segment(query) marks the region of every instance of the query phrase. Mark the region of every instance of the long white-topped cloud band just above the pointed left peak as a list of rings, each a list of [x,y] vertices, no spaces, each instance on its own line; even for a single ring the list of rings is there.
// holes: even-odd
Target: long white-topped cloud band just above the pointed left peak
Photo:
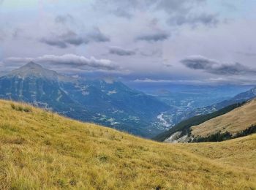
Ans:
[[[103,69],[103,70],[116,70],[118,66],[113,64],[108,59],[97,59],[94,57],[86,58],[84,56],[77,56],[74,54],[64,54],[63,56],[45,55],[37,58],[17,58],[10,57],[4,59],[4,64],[8,66],[18,66],[18,64],[28,63],[34,61],[38,64],[48,64],[49,66],[67,66],[77,67],[78,69]]]

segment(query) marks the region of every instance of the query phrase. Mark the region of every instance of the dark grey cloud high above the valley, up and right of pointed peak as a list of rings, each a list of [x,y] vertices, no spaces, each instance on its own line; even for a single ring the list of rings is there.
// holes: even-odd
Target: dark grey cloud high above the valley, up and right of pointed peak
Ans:
[[[69,45],[83,45],[90,42],[109,42],[110,39],[99,31],[99,28],[94,28],[89,34],[78,35],[75,31],[65,31],[61,35],[51,35],[50,37],[43,37],[40,42],[47,45],[66,48]]]

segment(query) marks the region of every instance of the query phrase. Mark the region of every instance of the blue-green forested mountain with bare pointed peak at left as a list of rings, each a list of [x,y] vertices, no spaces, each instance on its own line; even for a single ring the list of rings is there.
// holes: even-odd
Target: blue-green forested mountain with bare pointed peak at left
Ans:
[[[67,77],[33,62],[0,77],[0,98],[29,102],[142,137],[163,132],[157,115],[170,109],[119,81]]]

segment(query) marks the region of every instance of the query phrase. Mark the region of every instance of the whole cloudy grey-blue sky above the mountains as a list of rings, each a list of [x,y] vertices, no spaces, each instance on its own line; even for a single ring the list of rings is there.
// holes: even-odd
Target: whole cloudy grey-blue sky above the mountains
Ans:
[[[0,0],[0,71],[255,84],[255,0]]]

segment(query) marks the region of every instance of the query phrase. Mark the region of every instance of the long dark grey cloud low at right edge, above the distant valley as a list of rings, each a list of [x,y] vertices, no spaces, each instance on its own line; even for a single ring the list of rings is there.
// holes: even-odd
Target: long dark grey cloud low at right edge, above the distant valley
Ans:
[[[246,75],[256,73],[255,69],[251,69],[243,64],[226,64],[203,56],[190,56],[189,58],[182,59],[181,63],[189,69],[203,70],[215,75]]]

